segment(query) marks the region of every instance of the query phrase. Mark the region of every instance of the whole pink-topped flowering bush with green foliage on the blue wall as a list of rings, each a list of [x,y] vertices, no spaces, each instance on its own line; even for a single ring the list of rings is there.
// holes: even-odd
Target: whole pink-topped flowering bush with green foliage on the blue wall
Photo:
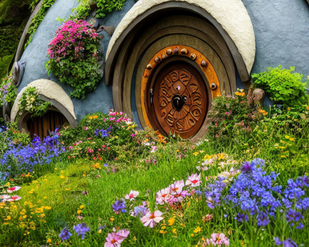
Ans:
[[[74,88],[71,97],[85,98],[95,90],[103,76],[99,36],[86,21],[69,20],[63,23],[50,41],[47,53],[50,60],[45,67],[48,74]],[[102,71],[102,72],[101,72]]]

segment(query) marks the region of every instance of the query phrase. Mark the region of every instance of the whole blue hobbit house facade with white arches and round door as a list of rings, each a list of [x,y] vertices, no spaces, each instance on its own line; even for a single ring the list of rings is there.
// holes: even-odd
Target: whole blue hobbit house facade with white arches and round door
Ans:
[[[85,99],[70,98],[72,88],[48,75],[45,63],[59,27],[56,19],[68,18],[76,6],[76,0],[56,0],[26,49],[16,53],[19,93],[11,107],[3,107],[3,115],[32,136],[46,136],[65,123],[75,127],[89,113],[115,109],[139,128],[201,138],[212,99],[248,88],[251,73],[281,63],[307,74],[306,0],[284,0],[280,7],[266,0],[127,0],[104,19],[86,18],[103,36],[102,79]],[[41,117],[19,111],[19,99],[32,86],[40,100],[51,103]]]

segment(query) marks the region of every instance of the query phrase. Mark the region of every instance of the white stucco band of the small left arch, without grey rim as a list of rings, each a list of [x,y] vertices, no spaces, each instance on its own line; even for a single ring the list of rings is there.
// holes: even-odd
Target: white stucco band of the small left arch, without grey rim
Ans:
[[[59,103],[59,105],[62,105],[63,107],[65,107],[66,110],[76,120],[72,100],[66,94],[66,92],[62,89],[62,87],[59,86],[56,82],[46,80],[46,79],[39,79],[39,80],[36,80],[36,81],[29,83],[17,95],[16,100],[15,100],[13,107],[12,107],[12,110],[11,110],[11,121],[12,122],[15,121],[16,115],[19,111],[19,104],[20,104],[19,100],[20,100],[23,92],[28,87],[36,87],[38,94],[41,94],[41,95],[45,96],[46,98],[49,98],[49,99]],[[61,109],[59,109],[59,110],[61,111]]]

